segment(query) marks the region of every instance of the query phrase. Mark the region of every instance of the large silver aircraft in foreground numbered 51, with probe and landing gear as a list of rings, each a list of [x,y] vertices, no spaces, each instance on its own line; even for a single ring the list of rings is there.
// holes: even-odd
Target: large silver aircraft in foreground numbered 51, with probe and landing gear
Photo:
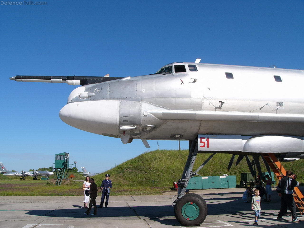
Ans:
[[[258,156],[301,158],[304,151],[302,70],[174,62],[155,74],[126,77],[14,76],[15,81],[81,85],[59,112],[65,123],[95,134],[120,138],[189,140],[175,216],[185,226],[204,221],[207,206],[185,188],[197,153],[230,153],[246,157],[261,172]],[[254,161],[248,161],[253,155]],[[211,157],[210,157],[211,158]],[[207,161],[206,161],[207,162]],[[269,168],[269,167],[268,167]],[[250,169],[251,171],[251,169]],[[191,206],[189,205],[191,202]],[[199,211],[192,218],[183,211]],[[186,213],[186,214],[185,214]]]

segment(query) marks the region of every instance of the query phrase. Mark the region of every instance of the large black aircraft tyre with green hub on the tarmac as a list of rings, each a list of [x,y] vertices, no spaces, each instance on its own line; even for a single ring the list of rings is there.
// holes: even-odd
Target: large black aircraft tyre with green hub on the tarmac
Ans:
[[[183,226],[199,226],[207,216],[207,204],[202,196],[189,193],[177,201],[175,218]]]

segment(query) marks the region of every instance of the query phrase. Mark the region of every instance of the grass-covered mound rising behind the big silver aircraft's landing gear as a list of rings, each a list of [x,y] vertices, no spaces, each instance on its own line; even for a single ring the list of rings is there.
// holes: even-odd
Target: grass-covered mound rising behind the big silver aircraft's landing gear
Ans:
[[[198,168],[210,154],[198,154],[194,170]],[[109,173],[113,188],[113,193],[117,195],[144,195],[153,194],[161,190],[170,190],[172,182],[181,178],[184,165],[188,157],[188,150],[154,150],[138,157],[130,159],[110,170],[98,174],[94,177],[97,185],[100,185],[104,175]],[[245,159],[235,166],[235,161],[230,171],[227,170],[230,161],[230,154],[216,154],[199,171],[201,176],[219,176],[223,174],[236,175],[237,184],[240,183],[240,173],[249,172]],[[261,164],[263,162],[261,161]],[[298,174],[298,181],[303,181],[304,161],[285,162],[285,169],[290,169]],[[262,165],[262,171],[266,168]],[[153,187],[154,180],[154,187]]]

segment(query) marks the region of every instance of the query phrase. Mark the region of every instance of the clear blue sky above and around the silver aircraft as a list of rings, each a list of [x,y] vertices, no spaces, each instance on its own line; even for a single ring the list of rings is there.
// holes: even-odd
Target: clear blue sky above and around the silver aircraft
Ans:
[[[68,152],[78,169],[101,172],[148,151],[140,140],[124,145],[62,122],[75,86],[11,76],[138,76],[196,58],[304,69],[303,0],[45,2],[0,5],[0,162],[8,169],[49,167]],[[176,141],[158,144],[178,149]]]

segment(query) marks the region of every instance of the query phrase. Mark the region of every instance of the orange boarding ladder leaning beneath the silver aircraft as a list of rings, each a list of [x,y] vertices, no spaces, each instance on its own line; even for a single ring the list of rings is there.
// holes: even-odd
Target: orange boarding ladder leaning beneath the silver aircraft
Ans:
[[[282,166],[281,162],[278,161],[278,158],[275,157],[274,153],[262,153],[262,156],[279,180],[286,175],[286,170]],[[304,213],[304,202],[302,201],[304,196],[298,187],[295,187],[293,191],[294,194],[292,195],[295,199],[295,205],[299,208],[299,212],[302,215],[302,213]]]

